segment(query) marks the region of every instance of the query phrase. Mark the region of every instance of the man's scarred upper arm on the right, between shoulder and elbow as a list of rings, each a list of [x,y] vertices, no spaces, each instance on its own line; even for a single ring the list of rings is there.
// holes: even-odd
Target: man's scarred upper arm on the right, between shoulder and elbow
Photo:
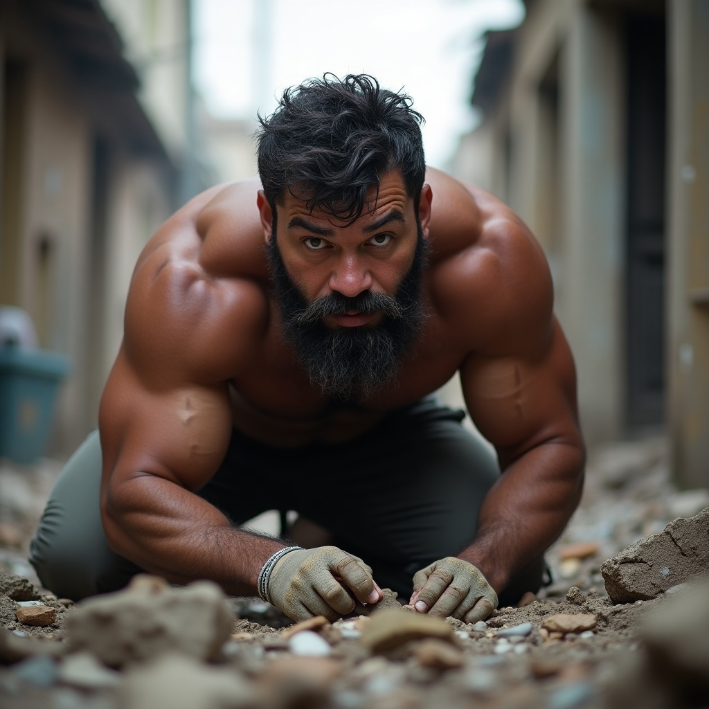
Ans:
[[[580,444],[574,362],[556,321],[537,352],[471,354],[461,381],[471,418],[498,450],[503,469],[547,441]]]

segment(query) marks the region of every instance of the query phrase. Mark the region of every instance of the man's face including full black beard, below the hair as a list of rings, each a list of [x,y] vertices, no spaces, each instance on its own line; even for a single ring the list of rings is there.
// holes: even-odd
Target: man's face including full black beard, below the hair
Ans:
[[[350,225],[291,195],[271,215],[267,253],[286,337],[313,384],[338,401],[395,379],[416,340],[429,207],[430,191],[415,213],[391,171]]]

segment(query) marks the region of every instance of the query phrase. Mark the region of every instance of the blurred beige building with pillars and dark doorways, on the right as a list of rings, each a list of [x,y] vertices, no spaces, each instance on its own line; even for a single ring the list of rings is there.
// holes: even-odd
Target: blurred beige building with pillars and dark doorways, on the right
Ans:
[[[666,424],[709,484],[709,3],[527,0],[489,33],[454,172],[552,268],[589,441]]]

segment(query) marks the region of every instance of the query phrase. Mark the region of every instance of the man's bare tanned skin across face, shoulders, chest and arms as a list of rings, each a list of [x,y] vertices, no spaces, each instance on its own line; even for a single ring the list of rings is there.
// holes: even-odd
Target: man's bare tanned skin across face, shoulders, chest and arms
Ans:
[[[272,213],[257,181],[210,189],[160,228],[135,267],[101,401],[101,513],[114,551],[169,581],[213,579],[227,593],[254,595],[259,570],[283,544],[231,527],[194,494],[216,472],[232,427],[281,447],[344,441],[457,371],[503,470],[458,558],[500,593],[558,537],[581,494],[584,445],[545,257],[491,195],[433,169],[426,182],[429,316],[398,382],[358,407],[339,408],[313,388],[281,337],[264,255]],[[416,242],[413,199],[397,171],[382,176],[368,207],[344,225],[291,196],[277,206],[284,264],[309,301],[396,291]],[[348,313],[325,324],[378,317]],[[352,590],[360,601],[380,594],[371,582]],[[427,608],[436,601],[428,584],[414,595]]]

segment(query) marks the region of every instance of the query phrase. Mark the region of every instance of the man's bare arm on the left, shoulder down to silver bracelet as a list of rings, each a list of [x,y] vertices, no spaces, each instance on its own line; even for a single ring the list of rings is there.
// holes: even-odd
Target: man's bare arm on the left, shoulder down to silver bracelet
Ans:
[[[204,274],[186,244],[158,245],[135,272],[99,415],[101,513],[111,548],[143,569],[252,594],[283,545],[233,527],[196,491],[227,450],[226,381],[258,341],[265,306],[250,281]]]

